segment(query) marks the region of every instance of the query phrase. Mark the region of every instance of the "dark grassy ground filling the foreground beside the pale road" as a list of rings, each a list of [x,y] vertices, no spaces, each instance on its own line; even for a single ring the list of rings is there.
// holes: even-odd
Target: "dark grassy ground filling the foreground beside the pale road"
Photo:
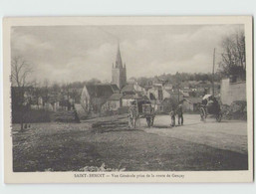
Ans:
[[[86,166],[127,171],[246,170],[248,156],[207,145],[120,129],[97,133],[92,123],[13,126],[13,170],[79,171]]]

